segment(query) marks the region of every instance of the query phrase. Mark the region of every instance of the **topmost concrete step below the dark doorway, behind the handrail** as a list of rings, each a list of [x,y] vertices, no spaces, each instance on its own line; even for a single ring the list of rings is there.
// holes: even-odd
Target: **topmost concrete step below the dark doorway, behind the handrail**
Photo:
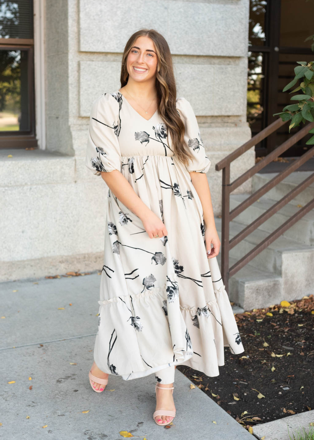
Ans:
[[[252,177],[252,194],[255,193],[260,187],[269,182],[273,177],[277,176],[277,172],[271,173],[256,173]],[[293,188],[307,179],[312,171],[296,171],[292,172],[284,180],[278,183],[274,188],[268,191],[265,195],[272,200],[280,200],[285,194],[288,194]],[[306,205],[310,200],[314,198],[314,183],[303,190],[296,198],[290,202],[292,205]]]

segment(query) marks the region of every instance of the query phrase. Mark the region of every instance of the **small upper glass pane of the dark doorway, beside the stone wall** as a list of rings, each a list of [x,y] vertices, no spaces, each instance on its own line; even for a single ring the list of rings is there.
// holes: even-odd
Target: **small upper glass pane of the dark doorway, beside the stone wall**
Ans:
[[[248,44],[252,46],[265,46],[267,0],[250,0],[250,18],[248,20]]]

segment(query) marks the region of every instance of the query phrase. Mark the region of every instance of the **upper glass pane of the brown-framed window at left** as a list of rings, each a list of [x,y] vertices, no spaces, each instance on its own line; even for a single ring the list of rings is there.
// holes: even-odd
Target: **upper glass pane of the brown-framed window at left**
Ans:
[[[33,1],[0,0],[0,38],[33,38]]]

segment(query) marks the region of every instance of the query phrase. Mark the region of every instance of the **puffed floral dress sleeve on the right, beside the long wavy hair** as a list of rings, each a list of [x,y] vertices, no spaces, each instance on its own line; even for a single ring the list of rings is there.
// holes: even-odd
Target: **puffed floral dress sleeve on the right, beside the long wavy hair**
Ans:
[[[185,125],[184,140],[193,155],[193,161],[189,160],[186,169],[189,172],[208,172],[211,161],[206,156],[205,147],[201,138],[200,129],[193,108],[185,98],[178,98],[176,101],[177,110]]]

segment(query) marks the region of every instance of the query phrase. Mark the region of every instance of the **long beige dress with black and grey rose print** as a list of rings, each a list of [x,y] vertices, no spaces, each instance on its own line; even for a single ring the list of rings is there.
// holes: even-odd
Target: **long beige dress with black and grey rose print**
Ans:
[[[211,162],[189,101],[177,99],[176,108],[193,154],[187,167],[158,110],[146,120],[119,91],[91,106],[85,165],[96,176],[119,170],[168,232],[150,238],[108,191],[94,359],[124,380],[178,364],[217,376],[224,347],[244,351],[216,257],[207,258],[203,209],[189,174],[206,173]]]

